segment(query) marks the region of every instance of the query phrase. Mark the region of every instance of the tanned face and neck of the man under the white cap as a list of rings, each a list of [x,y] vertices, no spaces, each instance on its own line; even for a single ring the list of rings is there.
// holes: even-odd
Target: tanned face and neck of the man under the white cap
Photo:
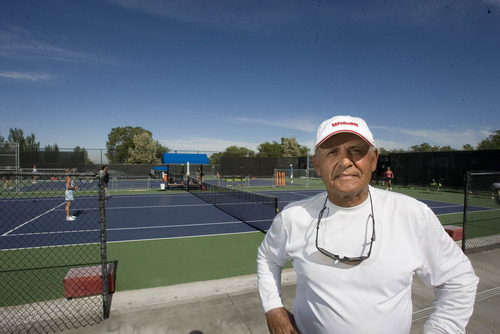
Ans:
[[[368,196],[368,184],[377,168],[378,151],[351,133],[340,133],[321,144],[313,156],[328,198],[339,206],[355,206]]]

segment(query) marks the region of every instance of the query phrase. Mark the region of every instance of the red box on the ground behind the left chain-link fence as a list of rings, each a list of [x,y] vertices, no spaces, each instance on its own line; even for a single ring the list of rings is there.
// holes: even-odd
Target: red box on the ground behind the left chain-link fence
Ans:
[[[108,291],[115,291],[115,266],[108,264]],[[100,295],[101,266],[71,268],[64,278],[64,296],[68,299]]]

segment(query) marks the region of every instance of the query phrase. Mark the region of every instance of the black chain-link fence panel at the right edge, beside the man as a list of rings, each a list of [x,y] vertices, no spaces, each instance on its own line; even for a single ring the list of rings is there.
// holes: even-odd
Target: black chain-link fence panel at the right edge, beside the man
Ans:
[[[465,184],[462,249],[500,247],[500,172],[468,172]]]

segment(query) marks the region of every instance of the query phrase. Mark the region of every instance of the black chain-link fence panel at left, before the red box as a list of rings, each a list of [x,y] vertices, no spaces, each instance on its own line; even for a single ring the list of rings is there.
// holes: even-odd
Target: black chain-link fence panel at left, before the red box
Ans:
[[[0,333],[50,333],[107,318],[114,266],[106,262],[103,175],[0,176]]]

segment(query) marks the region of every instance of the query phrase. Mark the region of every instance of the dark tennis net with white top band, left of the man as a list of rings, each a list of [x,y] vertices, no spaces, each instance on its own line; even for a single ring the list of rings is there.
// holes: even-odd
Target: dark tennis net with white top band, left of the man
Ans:
[[[253,228],[266,232],[279,211],[278,197],[188,178],[188,191]]]

